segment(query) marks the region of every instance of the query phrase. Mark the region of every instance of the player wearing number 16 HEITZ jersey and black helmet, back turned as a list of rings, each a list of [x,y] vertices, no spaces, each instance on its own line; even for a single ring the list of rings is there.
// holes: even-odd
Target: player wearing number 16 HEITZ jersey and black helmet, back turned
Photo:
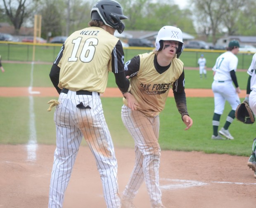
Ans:
[[[95,157],[107,207],[121,208],[116,156],[100,99],[100,93],[104,93],[107,86],[108,73],[112,71],[128,100],[129,109],[136,109],[124,71],[123,47],[114,37],[115,30],[123,32],[121,19],[127,17],[118,2],[96,2],[91,10],[90,27],[75,31],[66,39],[50,71],[52,83],[60,95],[54,114],[57,147],[49,208],[63,206],[64,193],[83,137]]]

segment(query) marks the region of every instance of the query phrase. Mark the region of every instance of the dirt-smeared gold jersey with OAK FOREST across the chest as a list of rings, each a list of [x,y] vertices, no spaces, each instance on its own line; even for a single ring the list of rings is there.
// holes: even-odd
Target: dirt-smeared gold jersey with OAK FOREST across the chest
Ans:
[[[154,52],[140,54],[125,64],[137,109],[147,116],[157,116],[164,109],[171,87],[184,92],[183,62],[174,58],[164,70],[160,68]]]

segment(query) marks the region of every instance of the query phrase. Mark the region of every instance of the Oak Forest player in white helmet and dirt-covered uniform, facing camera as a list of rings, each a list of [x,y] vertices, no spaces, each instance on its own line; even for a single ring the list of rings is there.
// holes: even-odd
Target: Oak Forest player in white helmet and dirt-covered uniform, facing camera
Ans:
[[[121,116],[135,141],[135,165],[123,191],[122,208],[133,208],[133,198],[145,180],[152,208],[164,208],[159,188],[160,147],[159,113],[164,109],[172,87],[176,106],[187,126],[192,119],[187,112],[184,90],[183,62],[178,59],[183,50],[182,32],[173,26],[164,26],[156,37],[156,49],[140,54],[125,64],[130,78],[131,92],[138,102],[137,110],[127,107],[126,99]]]

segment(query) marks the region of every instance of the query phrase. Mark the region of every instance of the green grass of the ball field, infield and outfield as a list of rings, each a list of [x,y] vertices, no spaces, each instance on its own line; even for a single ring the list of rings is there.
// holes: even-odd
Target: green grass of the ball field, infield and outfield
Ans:
[[[0,74],[1,87],[28,87],[31,84],[31,64],[4,64],[5,73]],[[34,87],[52,87],[49,79],[51,64],[35,64],[33,70]],[[238,71],[237,79],[241,89],[246,88],[248,75]],[[212,72],[208,71],[207,79],[199,79],[198,70],[185,70],[186,88],[211,88]],[[116,87],[114,76],[109,74],[108,87]],[[0,97],[0,144],[26,144],[30,137],[31,111],[35,116],[36,139],[39,144],[55,144],[55,124],[53,111],[47,112],[47,101],[57,97]],[[243,98],[241,98],[243,100]],[[133,147],[133,139],[121,121],[121,98],[102,97],[104,115],[116,147]],[[212,135],[213,98],[187,98],[187,107],[193,126],[185,131],[180,114],[173,98],[169,97],[166,108],[160,114],[161,149],[178,151],[204,151],[206,153],[249,156],[251,145],[256,137],[254,125],[245,125],[234,121],[230,132],[235,140],[214,141]],[[230,111],[226,103],[220,126]],[[83,145],[85,142],[83,141]]]

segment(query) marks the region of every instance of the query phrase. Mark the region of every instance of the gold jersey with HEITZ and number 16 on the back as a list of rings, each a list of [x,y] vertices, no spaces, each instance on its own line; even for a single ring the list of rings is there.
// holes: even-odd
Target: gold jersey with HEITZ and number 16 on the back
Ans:
[[[119,45],[119,38],[100,27],[72,33],[54,62],[60,68],[58,87],[104,93],[109,71],[124,71],[123,47]]]

